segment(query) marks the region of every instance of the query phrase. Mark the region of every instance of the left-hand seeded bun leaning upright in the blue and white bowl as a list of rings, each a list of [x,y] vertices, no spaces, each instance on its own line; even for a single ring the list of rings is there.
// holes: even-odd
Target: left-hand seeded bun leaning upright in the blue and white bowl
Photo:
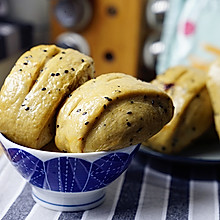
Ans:
[[[0,132],[40,149],[55,135],[54,115],[63,98],[93,74],[92,58],[72,49],[40,45],[25,52],[0,92]]]

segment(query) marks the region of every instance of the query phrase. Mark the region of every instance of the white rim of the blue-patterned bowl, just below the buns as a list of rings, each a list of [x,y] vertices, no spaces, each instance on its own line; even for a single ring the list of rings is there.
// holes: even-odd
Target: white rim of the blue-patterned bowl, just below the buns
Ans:
[[[2,141],[3,140],[3,141]],[[0,144],[2,144],[2,142],[6,142],[10,145],[13,145],[14,147],[10,147],[10,148],[19,148],[22,149],[24,151],[28,151],[29,153],[33,153],[33,154],[43,154],[43,155],[47,155],[47,156],[58,156],[58,157],[80,157],[80,158],[86,158],[89,156],[102,156],[102,155],[107,155],[110,153],[117,153],[117,152],[123,152],[123,153],[128,153],[128,152],[132,152],[132,149],[138,147],[138,145],[140,146],[141,144],[135,144],[135,145],[131,145],[128,147],[124,147],[124,148],[120,148],[117,150],[112,150],[112,151],[95,151],[95,152],[89,152],[89,153],[66,153],[66,152],[55,152],[55,151],[46,151],[46,150],[40,150],[40,149],[34,149],[34,148],[29,148],[20,144],[17,144],[13,141],[11,141],[10,139],[8,139],[4,134],[2,134],[0,132]]]

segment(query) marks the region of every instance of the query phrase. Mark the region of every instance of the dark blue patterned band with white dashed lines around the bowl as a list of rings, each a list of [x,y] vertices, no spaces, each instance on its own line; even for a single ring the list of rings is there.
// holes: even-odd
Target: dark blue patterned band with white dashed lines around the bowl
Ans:
[[[103,188],[119,177],[139,146],[130,154],[113,152],[94,162],[67,156],[42,161],[22,149],[5,150],[12,164],[32,185],[58,192],[86,192]]]

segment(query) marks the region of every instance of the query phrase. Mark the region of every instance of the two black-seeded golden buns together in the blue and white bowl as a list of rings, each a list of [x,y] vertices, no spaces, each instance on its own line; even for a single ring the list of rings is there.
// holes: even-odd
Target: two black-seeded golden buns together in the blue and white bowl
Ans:
[[[93,76],[92,58],[75,50],[27,51],[1,89],[0,132],[36,149],[56,133],[60,150],[91,152],[140,143],[172,118],[172,100],[155,86],[122,73]]]

